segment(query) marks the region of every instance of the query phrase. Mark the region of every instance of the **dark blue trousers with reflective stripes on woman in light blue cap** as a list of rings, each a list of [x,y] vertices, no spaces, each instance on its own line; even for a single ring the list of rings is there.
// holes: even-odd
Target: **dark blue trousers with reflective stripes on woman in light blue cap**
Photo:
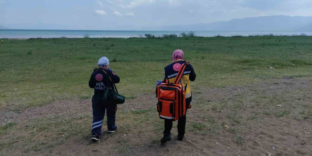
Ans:
[[[106,104],[103,100],[103,97],[93,95],[92,97],[92,115],[93,115],[93,124],[91,128],[92,135],[98,134],[101,135],[101,129],[103,124],[103,119],[105,115],[107,116],[107,129],[114,130],[116,129],[115,118],[117,105]]]

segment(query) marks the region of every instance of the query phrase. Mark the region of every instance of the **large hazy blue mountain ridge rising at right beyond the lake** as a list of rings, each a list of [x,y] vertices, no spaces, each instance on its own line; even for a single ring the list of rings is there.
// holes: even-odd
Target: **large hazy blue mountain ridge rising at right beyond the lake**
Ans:
[[[310,31],[312,17],[263,16],[212,23],[158,27],[162,31]]]

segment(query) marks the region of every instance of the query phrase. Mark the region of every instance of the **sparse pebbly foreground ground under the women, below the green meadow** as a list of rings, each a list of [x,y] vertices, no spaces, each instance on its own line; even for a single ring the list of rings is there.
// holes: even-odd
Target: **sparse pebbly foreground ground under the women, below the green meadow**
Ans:
[[[160,144],[154,94],[119,106],[114,134],[90,142],[90,99],[0,110],[2,155],[312,155],[312,82],[284,77],[193,91],[183,141]],[[281,107],[276,106],[281,105]],[[61,132],[61,133],[60,133]]]

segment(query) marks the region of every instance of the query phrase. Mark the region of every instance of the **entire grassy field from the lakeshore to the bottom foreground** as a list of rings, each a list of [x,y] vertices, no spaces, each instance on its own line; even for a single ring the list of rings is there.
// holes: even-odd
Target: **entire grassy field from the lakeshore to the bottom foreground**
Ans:
[[[312,154],[310,36],[1,40],[4,155]],[[163,146],[154,90],[175,49],[197,79],[187,139]],[[87,82],[102,56],[127,101],[117,114],[119,132],[91,144]]]

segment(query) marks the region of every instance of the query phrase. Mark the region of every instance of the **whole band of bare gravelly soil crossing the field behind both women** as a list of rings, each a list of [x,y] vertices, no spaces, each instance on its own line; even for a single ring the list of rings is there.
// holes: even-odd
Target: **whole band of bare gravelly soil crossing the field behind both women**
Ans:
[[[246,86],[231,86],[225,88],[201,88],[193,91],[193,103],[196,99],[207,101],[220,101],[225,98],[237,95],[254,95],[255,93],[284,92],[285,90],[296,90],[306,88],[310,82],[306,80],[294,80],[292,78],[271,80],[268,83],[259,83]],[[118,105],[119,110],[146,110],[153,109],[157,103],[154,94],[140,94],[131,100],[126,100],[122,105]],[[27,119],[36,119],[41,117],[51,117],[56,115],[75,115],[92,113],[91,99],[82,100],[80,98],[71,98],[55,101],[42,107],[32,107],[26,110],[17,108],[8,108],[0,110],[0,125],[8,122],[21,122]]]

